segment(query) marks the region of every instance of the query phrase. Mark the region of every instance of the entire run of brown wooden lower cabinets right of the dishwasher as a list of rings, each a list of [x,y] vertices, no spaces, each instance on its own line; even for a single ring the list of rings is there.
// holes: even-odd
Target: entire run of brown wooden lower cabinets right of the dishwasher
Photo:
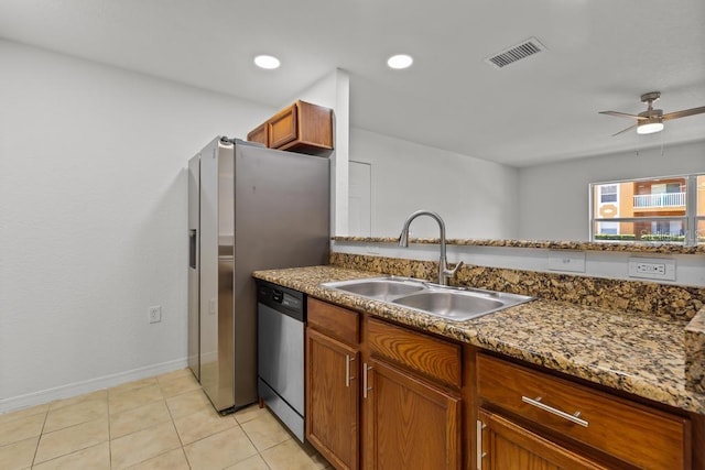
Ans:
[[[705,470],[701,416],[315,298],[307,321],[306,438],[338,470]]]

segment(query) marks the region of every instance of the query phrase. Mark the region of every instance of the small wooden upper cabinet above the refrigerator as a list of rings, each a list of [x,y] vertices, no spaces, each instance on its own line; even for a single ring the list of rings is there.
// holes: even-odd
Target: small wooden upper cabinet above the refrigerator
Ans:
[[[299,100],[253,129],[247,139],[271,149],[325,156],[333,150],[333,110]]]

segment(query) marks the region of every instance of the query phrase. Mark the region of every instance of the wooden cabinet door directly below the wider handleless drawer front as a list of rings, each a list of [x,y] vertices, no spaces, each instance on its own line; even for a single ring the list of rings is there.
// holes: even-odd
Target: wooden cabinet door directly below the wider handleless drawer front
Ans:
[[[380,361],[364,369],[365,468],[459,469],[460,398]]]

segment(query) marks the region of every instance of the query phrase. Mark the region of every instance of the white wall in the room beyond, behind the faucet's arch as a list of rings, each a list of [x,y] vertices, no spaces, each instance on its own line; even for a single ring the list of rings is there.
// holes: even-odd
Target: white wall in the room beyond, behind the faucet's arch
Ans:
[[[371,164],[372,237],[397,237],[417,209],[438,212],[448,238],[517,236],[517,168],[357,128],[350,130],[350,161]],[[425,217],[411,231],[438,236]]]

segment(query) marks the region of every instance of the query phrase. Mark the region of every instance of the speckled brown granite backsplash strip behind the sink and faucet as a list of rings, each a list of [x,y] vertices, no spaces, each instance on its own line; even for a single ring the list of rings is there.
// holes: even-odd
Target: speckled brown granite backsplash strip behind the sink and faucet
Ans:
[[[330,264],[433,282],[438,276],[434,261],[334,252]],[[462,266],[453,284],[679,320],[691,320],[705,302],[705,287],[474,265]]]

